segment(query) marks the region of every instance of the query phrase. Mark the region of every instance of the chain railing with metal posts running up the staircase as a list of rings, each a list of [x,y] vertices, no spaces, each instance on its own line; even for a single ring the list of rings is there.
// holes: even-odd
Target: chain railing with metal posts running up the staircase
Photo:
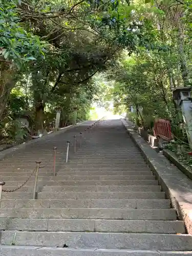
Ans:
[[[87,127],[87,129],[84,130],[84,136],[83,136],[83,133],[80,132],[80,140],[79,140],[79,148],[82,147],[82,139],[83,138],[88,138],[89,135],[91,134],[92,130],[99,125],[100,121],[102,120],[103,118],[97,120],[95,123],[93,123],[92,125],[90,125],[89,127]],[[76,145],[76,142],[77,142],[77,139],[76,139],[76,135],[74,136],[74,143],[73,143],[73,147],[74,147],[74,153],[76,154],[77,152],[77,145]],[[62,154],[63,152],[57,152],[57,147],[54,146],[53,147],[53,158],[50,158],[50,161],[53,159],[53,175],[56,176],[56,154]],[[66,163],[68,163],[69,161],[69,153],[70,153],[70,141],[68,140],[67,141],[67,152],[66,152]],[[3,189],[3,186],[6,184],[4,181],[0,182],[0,206],[1,206],[1,199],[2,199],[2,192],[6,192],[6,193],[12,193],[12,192],[15,192],[17,190],[19,190],[20,188],[22,188],[23,186],[25,186],[27,184],[27,182],[31,179],[31,177],[33,177],[35,175],[35,183],[34,183],[34,189],[33,189],[33,199],[36,199],[37,198],[37,183],[38,183],[38,175],[39,175],[39,169],[41,168],[44,168],[46,167],[50,161],[45,164],[44,166],[40,166],[40,163],[41,161],[35,161],[36,163],[36,167],[33,169],[33,172],[31,173],[31,175],[28,177],[28,179],[20,186],[16,187],[15,189],[12,189],[12,190],[7,190],[7,189]]]

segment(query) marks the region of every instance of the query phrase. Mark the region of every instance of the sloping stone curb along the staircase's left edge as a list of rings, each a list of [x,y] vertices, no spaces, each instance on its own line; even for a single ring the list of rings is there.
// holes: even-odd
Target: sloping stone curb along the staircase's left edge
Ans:
[[[38,139],[33,139],[33,140],[30,140],[26,143],[22,143],[22,144],[19,144],[19,145],[15,145],[13,147],[10,147],[8,148],[7,150],[4,150],[2,152],[0,152],[0,161],[4,160],[5,158],[9,157],[11,154],[13,155],[15,153],[15,151],[17,150],[24,150],[26,146],[28,145],[34,145],[36,142],[38,142],[39,140],[45,140],[47,139],[47,137],[49,136],[49,138],[51,137],[54,137],[56,135],[59,135],[61,133],[65,133],[67,132],[68,130],[70,130],[71,128],[73,128],[74,126],[78,126],[79,124],[83,124],[84,122],[86,121],[83,121],[83,122],[80,122],[80,123],[76,123],[76,124],[72,124],[72,125],[69,125],[67,127],[64,127],[62,129],[60,129],[59,131],[55,132],[55,133],[50,133],[48,135],[45,135],[41,138],[38,138]]]

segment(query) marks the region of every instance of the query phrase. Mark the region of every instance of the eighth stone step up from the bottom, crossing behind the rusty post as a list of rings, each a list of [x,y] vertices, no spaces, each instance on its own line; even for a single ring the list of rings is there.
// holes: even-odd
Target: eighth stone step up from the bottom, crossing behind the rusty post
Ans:
[[[6,184],[4,187],[9,186],[20,186],[23,182],[18,181],[6,181]],[[52,186],[53,181],[39,181],[37,183],[37,186]],[[94,185],[100,185],[100,186],[113,186],[113,185],[158,185],[158,180],[103,180],[103,181],[55,181],[54,185],[58,186],[94,186]],[[34,181],[28,181],[27,186],[34,186]]]

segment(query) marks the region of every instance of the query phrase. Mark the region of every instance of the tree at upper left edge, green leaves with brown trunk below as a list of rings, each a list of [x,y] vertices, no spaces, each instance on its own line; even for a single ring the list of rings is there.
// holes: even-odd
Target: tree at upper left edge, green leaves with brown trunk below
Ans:
[[[16,3],[1,0],[0,8],[0,119],[20,72],[38,57],[44,57],[46,45],[27,32],[16,11]]]

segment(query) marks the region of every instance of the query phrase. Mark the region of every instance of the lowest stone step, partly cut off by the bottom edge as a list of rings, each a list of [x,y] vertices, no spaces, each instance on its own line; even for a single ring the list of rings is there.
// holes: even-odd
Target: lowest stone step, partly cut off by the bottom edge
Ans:
[[[6,246],[1,256],[192,256],[191,251],[123,250],[123,249],[73,249],[35,246]]]

